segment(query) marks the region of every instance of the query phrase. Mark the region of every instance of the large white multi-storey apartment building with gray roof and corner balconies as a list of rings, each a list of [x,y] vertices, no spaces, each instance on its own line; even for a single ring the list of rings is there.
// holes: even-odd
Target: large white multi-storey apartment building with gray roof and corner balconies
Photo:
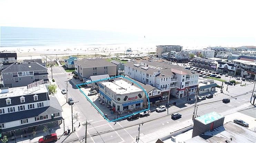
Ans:
[[[168,99],[169,91],[170,95],[178,98],[190,95],[188,92],[193,94],[192,88],[195,87],[194,89],[196,89],[198,82],[198,73],[192,73],[183,67],[171,65],[168,62],[153,60],[127,62],[125,64],[125,75],[141,83],[158,88],[161,90],[163,100]],[[188,89],[184,92],[186,88]],[[191,90],[189,91],[189,89]]]

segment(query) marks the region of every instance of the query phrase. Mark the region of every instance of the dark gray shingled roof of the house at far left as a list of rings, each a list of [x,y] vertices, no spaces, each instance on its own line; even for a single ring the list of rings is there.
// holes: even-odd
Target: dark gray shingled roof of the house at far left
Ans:
[[[30,67],[30,68],[29,68]],[[40,71],[40,70],[48,70],[43,65],[35,62],[35,63],[13,63],[6,69],[2,71],[2,73],[9,73],[9,72],[25,72],[25,71]]]

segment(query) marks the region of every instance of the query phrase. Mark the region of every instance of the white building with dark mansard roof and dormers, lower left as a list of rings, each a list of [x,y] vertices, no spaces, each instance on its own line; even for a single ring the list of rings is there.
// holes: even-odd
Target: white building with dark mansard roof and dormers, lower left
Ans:
[[[62,109],[55,97],[48,95],[45,84],[37,87],[2,87],[0,92],[0,132],[8,138],[49,129],[62,123]]]

